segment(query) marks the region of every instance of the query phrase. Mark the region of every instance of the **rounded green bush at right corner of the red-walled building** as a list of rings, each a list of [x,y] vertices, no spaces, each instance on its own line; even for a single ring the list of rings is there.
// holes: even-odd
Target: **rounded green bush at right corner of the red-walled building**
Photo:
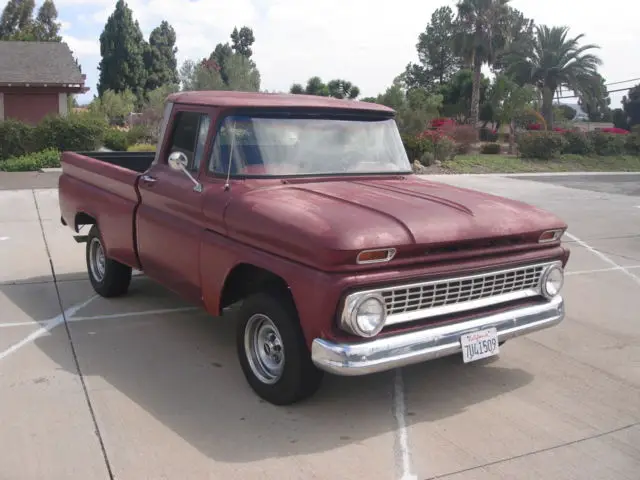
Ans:
[[[106,122],[95,115],[49,116],[35,129],[37,149],[95,150],[102,145],[106,130]]]

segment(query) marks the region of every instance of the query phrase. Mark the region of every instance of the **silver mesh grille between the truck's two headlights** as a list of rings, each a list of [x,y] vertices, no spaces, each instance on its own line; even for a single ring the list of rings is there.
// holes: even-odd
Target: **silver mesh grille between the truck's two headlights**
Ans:
[[[381,293],[387,308],[387,324],[537,295],[540,277],[547,266],[530,265],[384,289]],[[418,312],[420,315],[414,315]]]

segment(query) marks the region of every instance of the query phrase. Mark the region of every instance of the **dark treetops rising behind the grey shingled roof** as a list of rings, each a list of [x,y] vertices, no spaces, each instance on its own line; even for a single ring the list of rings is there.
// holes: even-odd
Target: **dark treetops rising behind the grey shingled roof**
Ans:
[[[0,18],[0,40],[60,42],[58,10],[45,0],[33,18],[34,0],[9,0]]]

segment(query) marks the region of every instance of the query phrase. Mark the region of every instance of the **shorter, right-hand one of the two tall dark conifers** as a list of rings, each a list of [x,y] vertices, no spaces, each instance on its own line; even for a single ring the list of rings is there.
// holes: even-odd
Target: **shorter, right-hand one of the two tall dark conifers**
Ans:
[[[163,85],[178,83],[177,52],[176,32],[169,22],[163,21],[149,35],[149,44],[144,55],[147,70],[145,91],[150,92]]]

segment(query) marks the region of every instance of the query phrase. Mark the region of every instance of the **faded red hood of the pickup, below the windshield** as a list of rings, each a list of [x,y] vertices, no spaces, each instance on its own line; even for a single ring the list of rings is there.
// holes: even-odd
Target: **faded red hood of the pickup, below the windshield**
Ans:
[[[556,216],[518,201],[408,177],[289,180],[255,188],[229,204],[230,235],[318,267],[365,249],[453,246],[565,228]]]

